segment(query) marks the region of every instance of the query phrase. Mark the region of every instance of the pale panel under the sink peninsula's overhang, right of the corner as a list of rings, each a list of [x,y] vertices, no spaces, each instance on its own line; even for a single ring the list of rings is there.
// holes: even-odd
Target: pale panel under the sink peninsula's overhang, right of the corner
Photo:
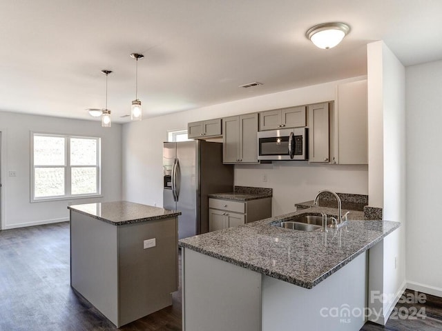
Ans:
[[[366,307],[367,252],[311,289],[262,276],[262,331],[359,330]]]

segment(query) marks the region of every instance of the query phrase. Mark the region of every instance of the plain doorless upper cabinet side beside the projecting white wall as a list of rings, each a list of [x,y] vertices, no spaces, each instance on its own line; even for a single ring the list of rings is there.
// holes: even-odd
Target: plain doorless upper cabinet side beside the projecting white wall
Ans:
[[[368,164],[367,80],[338,86],[333,163]]]

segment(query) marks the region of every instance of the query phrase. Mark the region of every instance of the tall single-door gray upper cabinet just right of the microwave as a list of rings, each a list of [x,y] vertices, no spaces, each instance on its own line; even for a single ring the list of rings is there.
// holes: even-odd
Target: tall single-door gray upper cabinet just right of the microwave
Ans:
[[[310,105],[309,162],[329,162],[329,103]]]

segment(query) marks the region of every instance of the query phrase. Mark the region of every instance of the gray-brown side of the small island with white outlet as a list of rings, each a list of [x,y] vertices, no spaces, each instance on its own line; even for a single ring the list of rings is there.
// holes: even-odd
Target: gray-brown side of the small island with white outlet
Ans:
[[[172,304],[178,289],[177,217],[119,225],[119,321],[140,319]],[[143,248],[155,238],[155,247]]]

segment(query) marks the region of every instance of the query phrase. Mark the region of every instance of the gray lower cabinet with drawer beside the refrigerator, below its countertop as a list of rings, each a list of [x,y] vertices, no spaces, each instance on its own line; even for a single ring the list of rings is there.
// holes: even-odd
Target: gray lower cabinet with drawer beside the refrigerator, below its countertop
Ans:
[[[271,198],[251,201],[209,199],[209,231],[223,230],[271,217]]]

